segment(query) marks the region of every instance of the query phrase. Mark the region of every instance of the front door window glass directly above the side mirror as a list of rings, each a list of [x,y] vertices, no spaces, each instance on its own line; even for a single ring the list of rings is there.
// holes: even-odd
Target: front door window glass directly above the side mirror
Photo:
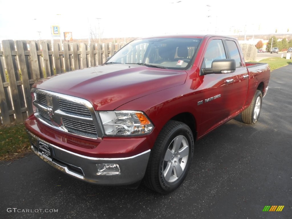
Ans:
[[[216,59],[226,59],[223,42],[220,39],[213,39],[208,44],[202,67],[211,68],[212,62]]]

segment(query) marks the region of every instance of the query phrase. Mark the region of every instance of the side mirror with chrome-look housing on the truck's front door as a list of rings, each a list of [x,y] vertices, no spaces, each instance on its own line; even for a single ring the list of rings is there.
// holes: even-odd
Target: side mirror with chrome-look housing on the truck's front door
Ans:
[[[232,73],[235,69],[236,62],[234,59],[216,59],[212,62],[211,68],[202,68],[200,75]]]

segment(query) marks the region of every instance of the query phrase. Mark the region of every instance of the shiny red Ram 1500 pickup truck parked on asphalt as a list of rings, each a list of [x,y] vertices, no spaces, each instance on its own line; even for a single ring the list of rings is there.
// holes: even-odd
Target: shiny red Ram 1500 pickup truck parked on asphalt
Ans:
[[[240,113],[258,121],[269,79],[229,36],[140,38],[101,66],[35,84],[25,126],[32,150],[71,176],[165,194],[185,179],[197,139]]]

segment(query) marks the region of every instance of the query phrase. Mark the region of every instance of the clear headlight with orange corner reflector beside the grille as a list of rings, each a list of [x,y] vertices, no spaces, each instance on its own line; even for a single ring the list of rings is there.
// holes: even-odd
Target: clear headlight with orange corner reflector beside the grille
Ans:
[[[106,135],[148,134],[154,125],[140,111],[101,111],[102,125]]]

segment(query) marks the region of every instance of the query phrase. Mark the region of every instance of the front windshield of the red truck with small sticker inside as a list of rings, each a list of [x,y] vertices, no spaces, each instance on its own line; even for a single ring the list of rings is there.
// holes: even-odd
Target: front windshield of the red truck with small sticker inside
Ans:
[[[201,38],[161,37],[137,39],[121,48],[105,64],[138,64],[167,69],[186,69]],[[189,64],[190,63],[190,64]]]

